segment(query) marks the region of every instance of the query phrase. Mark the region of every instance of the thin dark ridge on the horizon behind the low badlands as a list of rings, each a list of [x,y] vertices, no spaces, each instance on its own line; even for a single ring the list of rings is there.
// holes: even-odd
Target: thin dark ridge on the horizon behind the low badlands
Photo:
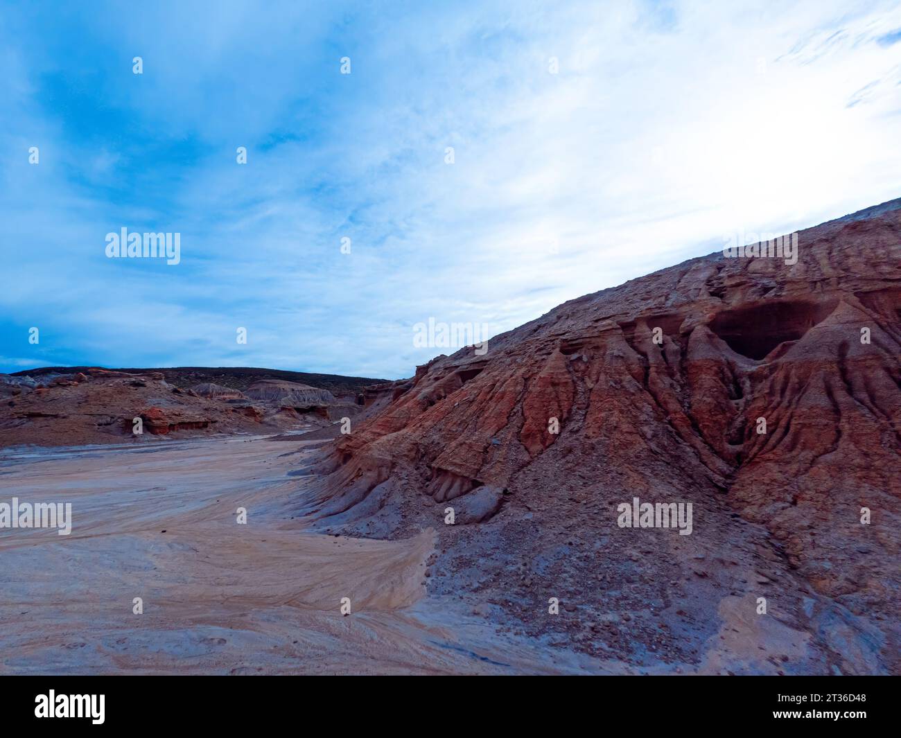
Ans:
[[[14,376],[41,377],[46,374],[66,374],[84,372],[90,367],[41,367],[41,369],[27,369],[17,371]],[[112,369],[102,367],[102,369]],[[254,382],[260,379],[285,379],[289,382],[319,387],[329,390],[334,396],[356,395],[363,387],[387,383],[387,379],[375,379],[367,377],[342,377],[339,374],[314,374],[305,371],[286,371],[283,369],[259,369],[256,367],[173,367],[171,369],[114,369],[133,374],[147,374],[160,372],[166,377],[166,381],[187,389],[205,382],[212,382],[223,387],[232,387],[243,392]]]

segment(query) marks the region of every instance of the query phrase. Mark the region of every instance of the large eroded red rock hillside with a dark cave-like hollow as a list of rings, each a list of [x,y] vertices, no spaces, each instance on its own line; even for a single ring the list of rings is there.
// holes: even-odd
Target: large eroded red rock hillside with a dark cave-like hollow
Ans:
[[[625,597],[638,577],[643,597],[711,627],[720,615],[693,598],[778,599],[823,670],[901,668],[899,208],[801,232],[794,265],[714,253],[560,305],[485,356],[438,357],[334,444],[308,512],[387,537],[436,525],[446,579],[432,588],[469,591],[475,566],[526,630],[532,600],[609,608],[598,591]],[[485,486],[505,490],[487,523],[441,524],[447,501]],[[694,503],[695,532],[619,528],[633,497]],[[697,573],[699,555],[719,563]],[[842,628],[860,637],[850,649]]]

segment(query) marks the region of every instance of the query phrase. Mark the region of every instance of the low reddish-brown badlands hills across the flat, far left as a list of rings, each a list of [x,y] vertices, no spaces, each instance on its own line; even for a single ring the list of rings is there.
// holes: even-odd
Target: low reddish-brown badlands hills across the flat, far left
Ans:
[[[241,368],[66,367],[0,375],[0,447],[282,431],[328,438],[334,421],[362,411],[373,381]],[[140,434],[133,433],[135,418]]]

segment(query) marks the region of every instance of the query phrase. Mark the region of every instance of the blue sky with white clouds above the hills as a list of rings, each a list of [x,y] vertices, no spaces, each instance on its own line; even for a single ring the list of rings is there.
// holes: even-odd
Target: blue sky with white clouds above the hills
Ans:
[[[898,196],[899,2],[0,2],[0,372],[404,378]]]

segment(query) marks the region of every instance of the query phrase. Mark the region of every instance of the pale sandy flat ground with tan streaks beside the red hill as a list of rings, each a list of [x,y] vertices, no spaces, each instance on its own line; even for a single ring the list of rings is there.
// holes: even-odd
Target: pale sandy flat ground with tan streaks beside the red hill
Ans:
[[[0,502],[70,502],[73,520],[68,536],[0,529],[0,672],[619,670],[425,597],[431,530],[305,532],[288,472],[313,453],[262,437],[0,453]]]

